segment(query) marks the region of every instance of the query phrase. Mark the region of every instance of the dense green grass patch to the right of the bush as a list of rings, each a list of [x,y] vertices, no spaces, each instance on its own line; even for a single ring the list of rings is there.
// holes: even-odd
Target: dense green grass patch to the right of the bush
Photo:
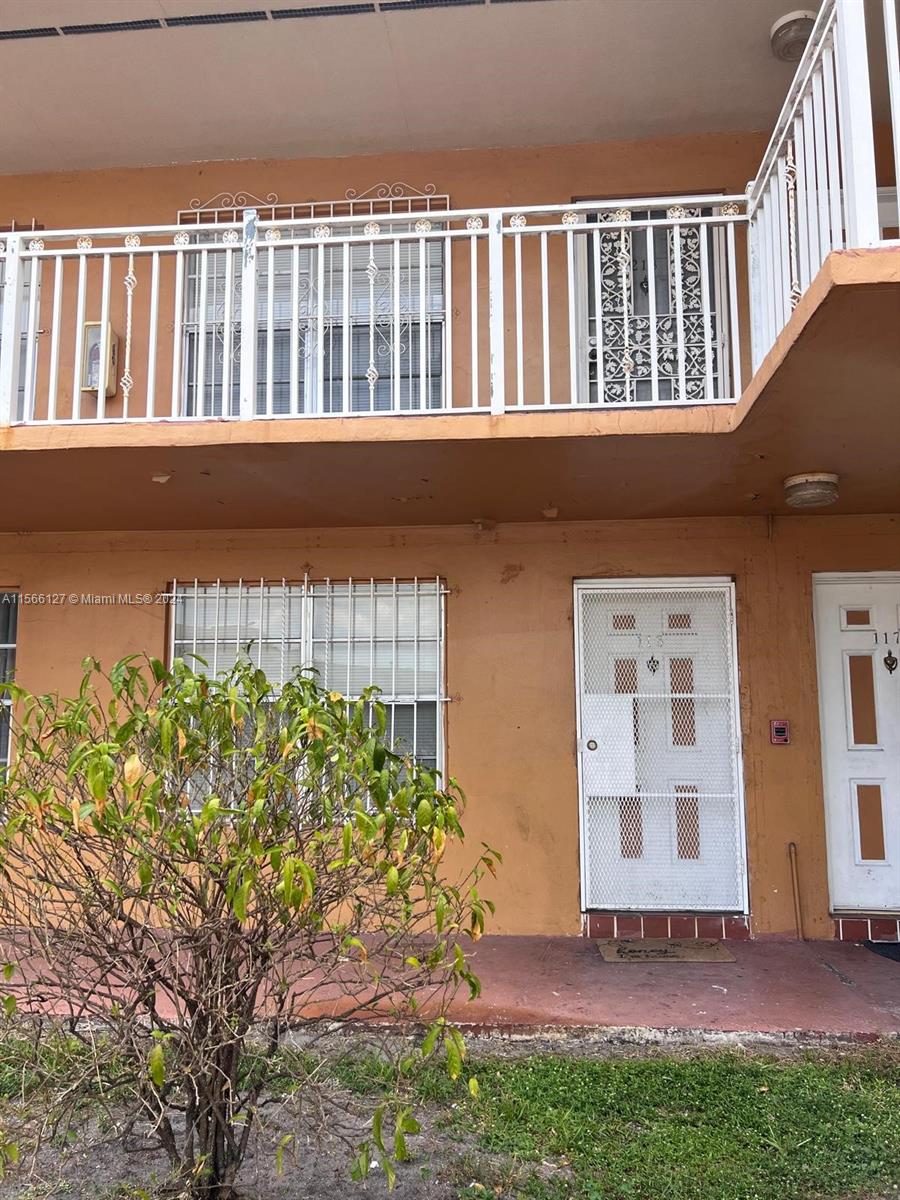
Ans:
[[[474,1099],[437,1073],[418,1084],[449,1134],[474,1133],[488,1152],[482,1176],[478,1153],[467,1156],[474,1182],[462,1195],[499,1186],[546,1200],[809,1200],[900,1189],[893,1048],[800,1061],[545,1055],[470,1069]],[[498,1162],[518,1169],[504,1178]]]

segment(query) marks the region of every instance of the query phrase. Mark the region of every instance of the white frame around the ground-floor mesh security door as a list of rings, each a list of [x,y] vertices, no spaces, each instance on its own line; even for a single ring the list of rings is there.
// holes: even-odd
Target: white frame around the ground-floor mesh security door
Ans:
[[[582,620],[580,598],[583,592],[668,592],[672,589],[683,592],[709,592],[721,590],[726,595],[728,625],[731,629],[731,665],[732,665],[732,713],[733,713],[733,738],[734,738],[734,782],[738,804],[738,836],[739,836],[739,863],[740,894],[743,907],[737,911],[738,916],[750,916],[750,871],[748,866],[746,846],[746,800],[744,792],[744,743],[740,727],[740,674],[738,659],[738,624],[734,580],[727,575],[709,576],[626,576],[624,578],[590,578],[582,577],[574,581],[572,588],[572,630],[575,642],[575,761],[578,784],[578,904],[581,906],[582,919],[587,908],[584,896],[587,894],[587,863],[584,860],[584,787],[582,780],[582,756],[577,752],[581,738],[581,697],[582,697]],[[732,910],[730,910],[731,912]]]

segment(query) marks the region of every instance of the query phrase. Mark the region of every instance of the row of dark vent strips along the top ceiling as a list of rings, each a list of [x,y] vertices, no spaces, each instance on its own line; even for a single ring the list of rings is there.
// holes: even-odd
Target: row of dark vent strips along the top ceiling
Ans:
[[[546,4],[547,0],[490,0],[502,4]],[[0,42],[36,37],[76,37],[85,34],[124,34],[144,30],[179,29],[192,25],[235,25],[259,20],[289,20],[302,17],[352,17],[359,13],[416,12],[424,8],[484,8],[488,0],[360,0],[352,4],[306,5],[293,8],[253,8],[246,12],[196,13],[186,17],[146,17],[136,20],[92,22],[83,25],[34,25],[29,29],[0,29]]]

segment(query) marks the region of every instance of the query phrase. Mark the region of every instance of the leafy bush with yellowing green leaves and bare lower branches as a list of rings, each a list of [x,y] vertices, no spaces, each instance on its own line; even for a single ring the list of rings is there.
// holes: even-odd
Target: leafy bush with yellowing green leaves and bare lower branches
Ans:
[[[70,1112],[100,1091],[182,1192],[220,1200],[287,1031],[414,1021],[427,1032],[397,1078],[437,1051],[460,1074],[444,1013],[460,985],[478,992],[463,943],[492,911],[478,883],[498,856],[446,877],[463,796],[394,752],[377,696],[305,673],[276,688],[245,660],[221,678],[86,660],[71,698],[6,686],[0,956],[35,1045],[62,1026],[90,1051]],[[415,1129],[400,1092],[380,1100],[389,1182]],[[356,1175],[368,1164],[364,1144]]]

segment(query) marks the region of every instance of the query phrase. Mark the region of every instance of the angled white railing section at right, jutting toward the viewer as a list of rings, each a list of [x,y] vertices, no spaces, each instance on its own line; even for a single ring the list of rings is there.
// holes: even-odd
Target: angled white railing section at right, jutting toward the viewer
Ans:
[[[899,206],[896,0],[823,0],[748,188],[754,370],[828,254],[890,240]]]

